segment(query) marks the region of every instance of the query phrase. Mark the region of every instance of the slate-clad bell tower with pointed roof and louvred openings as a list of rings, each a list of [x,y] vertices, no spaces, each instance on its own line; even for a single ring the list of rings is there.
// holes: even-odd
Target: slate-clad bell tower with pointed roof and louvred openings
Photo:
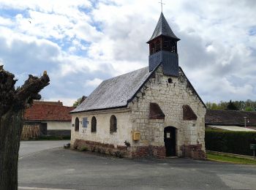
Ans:
[[[161,63],[165,75],[178,77],[177,42],[179,40],[161,12],[154,33],[147,42],[149,44],[148,66],[150,72]]]

